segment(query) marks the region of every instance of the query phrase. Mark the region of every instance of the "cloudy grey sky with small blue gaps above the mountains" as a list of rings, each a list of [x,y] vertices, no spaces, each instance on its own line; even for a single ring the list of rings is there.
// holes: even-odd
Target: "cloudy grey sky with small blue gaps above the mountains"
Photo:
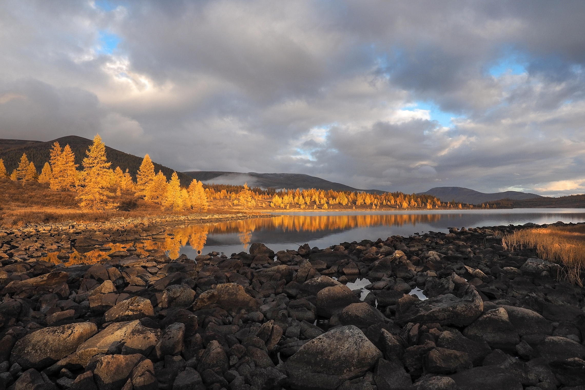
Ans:
[[[585,192],[585,2],[0,2],[0,138],[178,171]]]

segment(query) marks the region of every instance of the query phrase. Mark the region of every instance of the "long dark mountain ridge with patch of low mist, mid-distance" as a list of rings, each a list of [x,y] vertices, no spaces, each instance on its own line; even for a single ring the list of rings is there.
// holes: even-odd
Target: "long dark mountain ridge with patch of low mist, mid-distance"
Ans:
[[[207,184],[242,185],[244,182],[247,182],[250,187],[261,188],[319,188],[333,189],[333,191],[383,192],[377,189],[357,189],[349,187],[349,185],[299,173],[242,173],[221,171],[190,171],[183,173]]]

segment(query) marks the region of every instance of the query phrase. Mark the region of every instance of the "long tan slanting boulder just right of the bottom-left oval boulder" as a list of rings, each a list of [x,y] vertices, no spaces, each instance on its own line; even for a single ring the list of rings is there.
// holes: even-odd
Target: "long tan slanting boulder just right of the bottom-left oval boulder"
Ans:
[[[157,342],[156,334],[142,326],[140,320],[117,322],[77,347],[76,360],[85,367],[92,357],[101,353],[148,356]]]

